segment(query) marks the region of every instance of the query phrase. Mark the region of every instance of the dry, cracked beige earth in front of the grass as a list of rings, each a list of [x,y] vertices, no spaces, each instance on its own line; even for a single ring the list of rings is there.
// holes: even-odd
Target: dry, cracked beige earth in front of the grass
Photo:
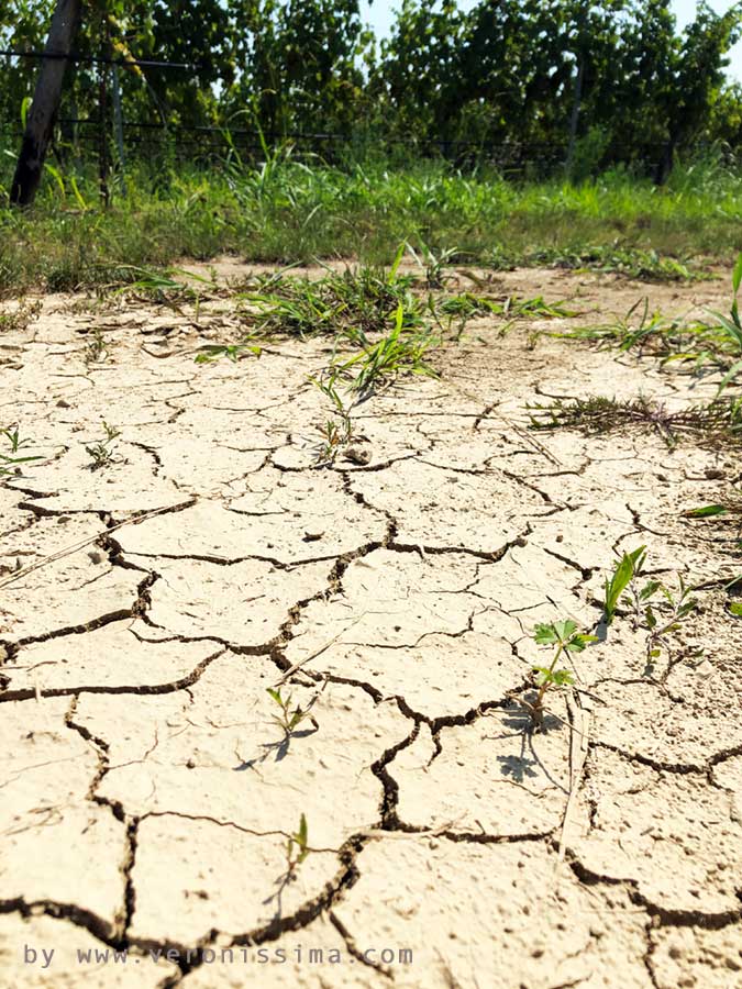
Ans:
[[[501,288],[593,322],[727,296]],[[0,424],[44,457],[0,486],[2,986],[742,986],[739,524],[683,515],[733,493],[739,453],[528,431],[550,396],[713,395],[534,340],[572,324],[470,323],[324,468],[326,340],[199,366],[229,300],[123,297],[2,334]],[[651,667],[629,614],[599,624],[640,545],[698,586]],[[566,616],[600,641],[533,732],[533,626]],[[309,709],[288,737],[280,685]]]

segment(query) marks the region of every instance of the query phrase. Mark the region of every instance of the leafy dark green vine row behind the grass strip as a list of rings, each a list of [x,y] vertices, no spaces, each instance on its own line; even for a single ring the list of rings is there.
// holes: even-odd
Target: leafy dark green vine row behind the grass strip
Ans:
[[[43,48],[51,11],[51,0],[10,0],[0,13],[3,43]],[[221,129],[237,166],[245,148],[231,132],[246,129],[266,163],[283,141],[334,134],[352,159],[380,144],[409,156],[413,144],[462,160],[495,144],[507,167],[509,149],[525,143],[535,167],[553,168],[564,162],[579,66],[573,177],[655,162],[661,147],[664,179],[678,151],[700,136],[729,140],[742,126],[742,97],[723,73],[741,20],[740,3],[716,14],[701,2],[678,33],[668,0],[478,0],[468,10],[455,0],[403,0],[377,44],[358,0],[112,0],[86,5],[76,49],[124,60],[124,120]],[[22,116],[36,69],[31,59],[3,65],[2,120]],[[63,158],[85,147],[86,129],[67,121],[96,118],[99,74],[86,60],[68,74]],[[182,136],[197,155],[200,136]],[[328,141],[326,156],[337,154]],[[169,149],[159,156],[167,162]],[[160,186],[176,180],[163,174]]]

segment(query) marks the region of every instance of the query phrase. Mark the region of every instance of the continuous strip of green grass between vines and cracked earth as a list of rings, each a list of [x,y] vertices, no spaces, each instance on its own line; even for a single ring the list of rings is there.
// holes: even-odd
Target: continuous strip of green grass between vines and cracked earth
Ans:
[[[0,208],[0,292],[104,290],[141,282],[142,269],[224,253],[388,266],[402,242],[431,288],[450,264],[687,280],[705,274],[702,259],[742,247],[742,176],[730,173],[694,184],[678,168],[662,189],[621,170],[580,185],[516,184],[439,162],[337,168],[277,154],[269,168],[184,166],[154,176],[139,165],[129,189],[103,210],[92,177],[60,173],[33,210]]]

